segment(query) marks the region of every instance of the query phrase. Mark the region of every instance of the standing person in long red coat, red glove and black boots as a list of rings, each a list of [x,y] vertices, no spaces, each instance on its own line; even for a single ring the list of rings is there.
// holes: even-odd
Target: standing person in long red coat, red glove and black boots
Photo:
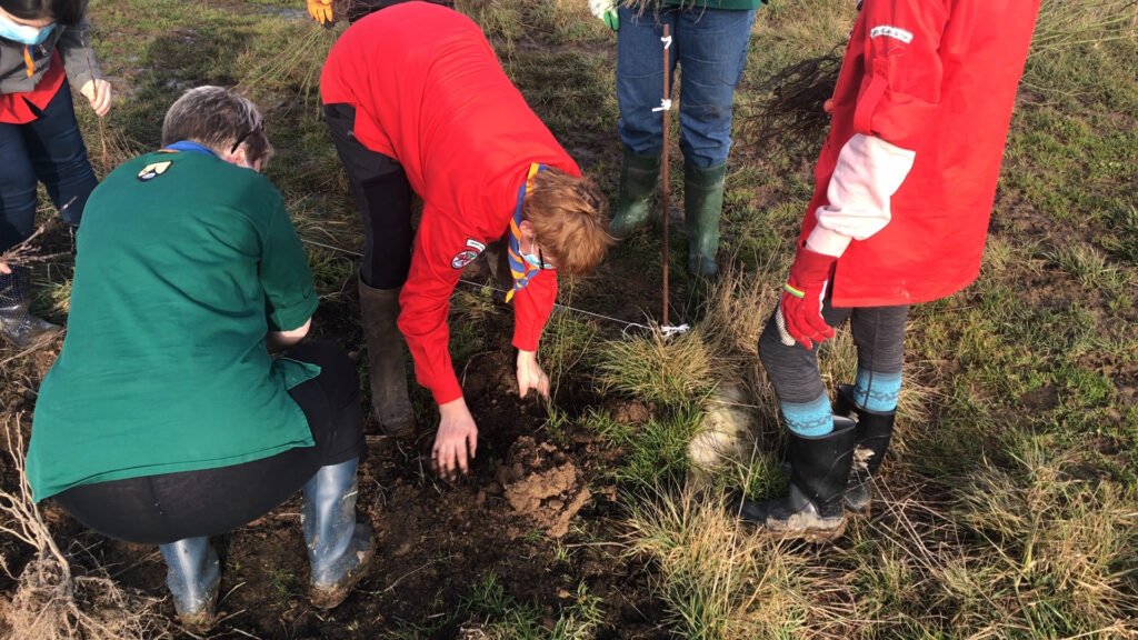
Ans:
[[[742,516],[833,540],[893,433],[910,304],[980,272],[1040,0],[866,0],[832,101],[817,188],[759,340],[789,427],[790,495]],[[831,407],[815,345],[850,321],[857,378]]]

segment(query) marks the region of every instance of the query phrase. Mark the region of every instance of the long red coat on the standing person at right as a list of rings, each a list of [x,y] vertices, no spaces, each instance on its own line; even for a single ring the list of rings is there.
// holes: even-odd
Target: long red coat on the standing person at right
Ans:
[[[855,134],[915,151],[915,159],[897,192],[884,198],[888,223],[841,253],[835,306],[927,302],[976,279],[1039,2],[865,1],[800,240],[830,204],[839,154]]]

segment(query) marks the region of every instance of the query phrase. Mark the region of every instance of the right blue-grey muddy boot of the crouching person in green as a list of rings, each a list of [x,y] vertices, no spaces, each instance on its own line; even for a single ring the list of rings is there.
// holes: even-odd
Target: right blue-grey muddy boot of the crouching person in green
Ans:
[[[358,466],[360,459],[353,458],[321,467],[304,485],[300,522],[312,564],[308,596],[321,609],[339,606],[376,556],[371,526],[356,522]]]

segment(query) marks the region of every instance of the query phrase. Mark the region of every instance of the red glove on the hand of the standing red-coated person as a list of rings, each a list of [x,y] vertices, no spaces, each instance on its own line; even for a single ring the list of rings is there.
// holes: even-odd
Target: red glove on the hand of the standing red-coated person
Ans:
[[[775,322],[782,342],[786,346],[795,342],[806,348],[815,343],[834,337],[834,328],[822,319],[822,298],[826,296],[830,273],[838,259],[807,248],[806,243],[798,248],[790,276],[783,285],[782,301]]]

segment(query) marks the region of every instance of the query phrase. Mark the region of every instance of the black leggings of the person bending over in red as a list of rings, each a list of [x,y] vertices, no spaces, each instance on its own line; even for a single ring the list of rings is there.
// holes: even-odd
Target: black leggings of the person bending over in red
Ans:
[[[325,105],[324,120],[336,153],[344,163],[363,214],[364,244],[360,278],[369,287],[394,289],[407,281],[411,269],[411,183],[395,158],[364,147],[352,130],[355,108]]]

